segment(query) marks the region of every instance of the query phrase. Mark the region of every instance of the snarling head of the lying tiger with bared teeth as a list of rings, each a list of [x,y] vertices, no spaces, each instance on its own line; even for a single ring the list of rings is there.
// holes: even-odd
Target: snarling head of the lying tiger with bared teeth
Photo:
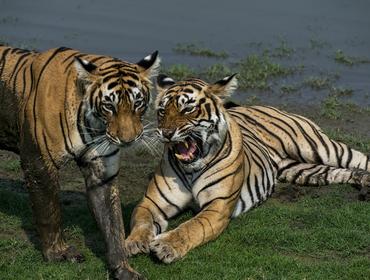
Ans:
[[[157,133],[182,165],[202,167],[225,139],[223,98],[236,89],[235,75],[214,84],[199,79],[175,82],[158,76]]]

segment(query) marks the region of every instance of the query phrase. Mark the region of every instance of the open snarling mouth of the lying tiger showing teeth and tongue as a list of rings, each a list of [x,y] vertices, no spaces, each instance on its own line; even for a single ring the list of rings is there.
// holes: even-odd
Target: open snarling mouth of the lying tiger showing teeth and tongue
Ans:
[[[183,163],[191,163],[199,158],[201,143],[191,137],[187,137],[182,142],[172,144],[172,151],[175,157]]]

